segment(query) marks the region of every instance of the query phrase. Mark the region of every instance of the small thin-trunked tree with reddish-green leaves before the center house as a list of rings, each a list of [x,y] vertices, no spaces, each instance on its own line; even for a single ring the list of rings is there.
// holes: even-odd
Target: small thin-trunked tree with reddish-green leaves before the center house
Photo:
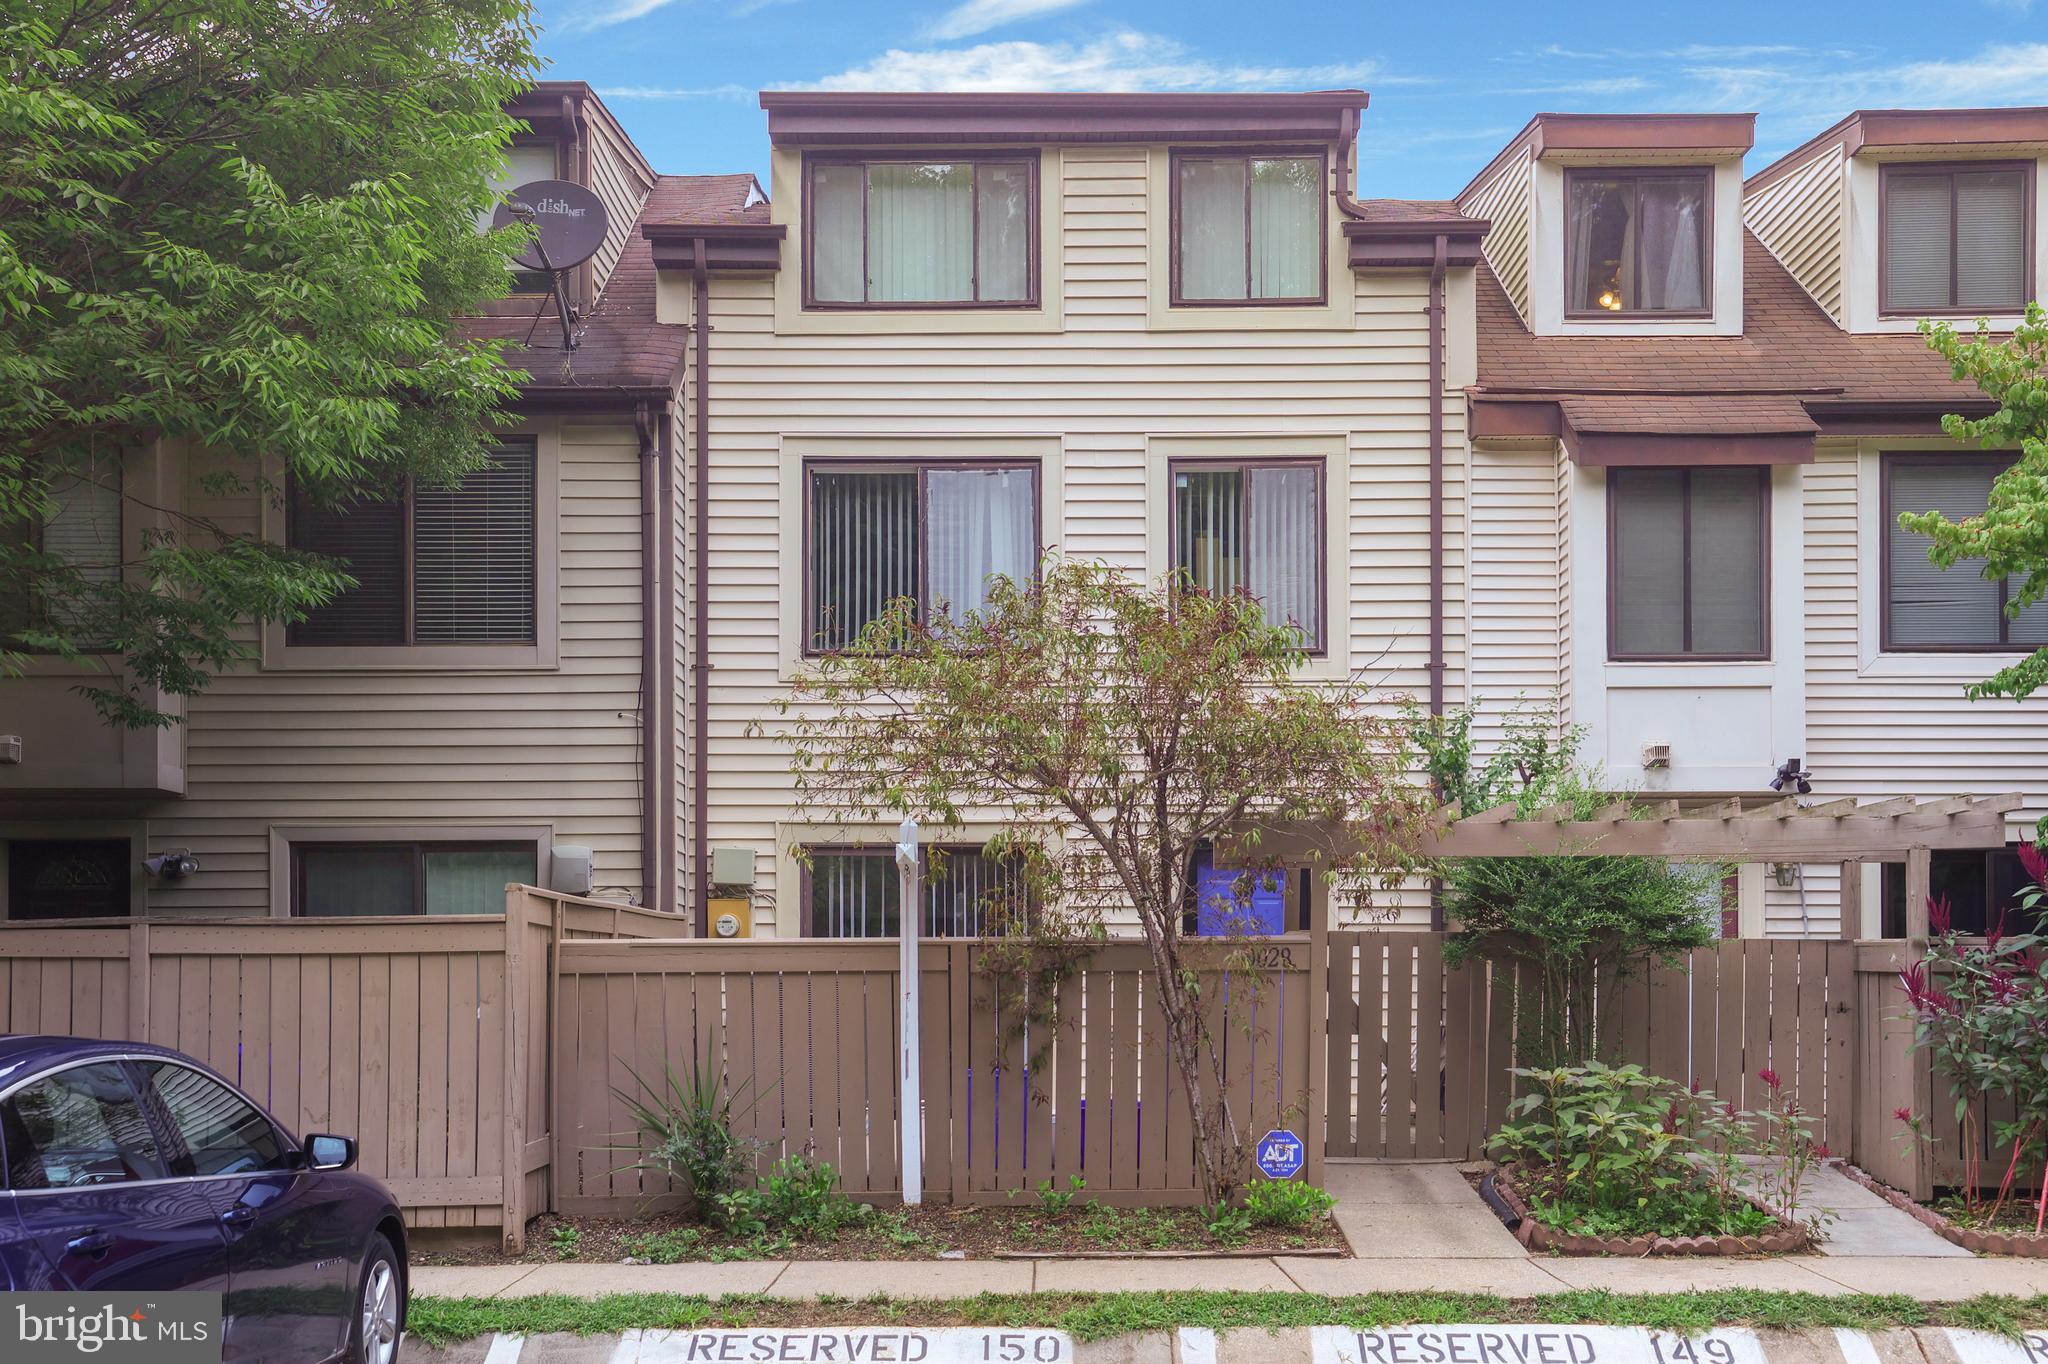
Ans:
[[[1001,827],[1026,887],[989,954],[1036,963],[1040,1004],[1057,993],[1044,963],[1085,952],[1126,907],[1202,1184],[1227,1198],[1249,1171],[1249,1114],[1231,1104],[1202,979],[1241,979],[1243,963],[1182,932],[1194,856],[1229,838],[1257,864],[1262,836],[1290,825],[1317,832],[1339,881],[1399,875],[1425,811],[1401,731],[1358,682],[1296,682],[1300,633],[1245,596],[1061,559],[989,592],[961,619],[899,600],[803,670],[782,705],[799,805],[825,823]]]

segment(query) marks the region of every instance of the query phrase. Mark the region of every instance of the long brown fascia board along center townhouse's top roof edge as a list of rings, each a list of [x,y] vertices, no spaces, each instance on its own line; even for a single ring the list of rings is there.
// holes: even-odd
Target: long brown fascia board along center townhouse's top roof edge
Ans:
[[[1337,141],[1364,90],[1282,94],[893,94],[764,90],[782,147],[1063,141]]]

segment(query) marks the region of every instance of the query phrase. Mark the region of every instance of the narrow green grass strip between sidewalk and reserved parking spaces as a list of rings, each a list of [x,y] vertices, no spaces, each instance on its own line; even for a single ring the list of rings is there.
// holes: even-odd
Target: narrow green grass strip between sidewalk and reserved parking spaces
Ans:
[[[969,1325],[1053,1327],[1075,1339],[1182,1325],[1430,1325],[1430,1323],[1585,1323],[1704,1331],[1749,1327],[1917,1327],[1956,1325],[2015,1333],[2048,1325],[2048,1296],[1976,1296],[1966,1303],[1919,1303],[1907,1296],[1821,1296],[1810,1292],[1556,1292],[1501,1298],[1483,1292],[1032,1292],[977,1298],[827,1298],[803,1303],[762,1294],[702,1298],[678,1292],[621,1292],[602,1298],[432,1298],[412,1303],[408,1329],[426,1346],[508,1331],[598,1335],[645,1329],[797,1327],[797,1325]]]

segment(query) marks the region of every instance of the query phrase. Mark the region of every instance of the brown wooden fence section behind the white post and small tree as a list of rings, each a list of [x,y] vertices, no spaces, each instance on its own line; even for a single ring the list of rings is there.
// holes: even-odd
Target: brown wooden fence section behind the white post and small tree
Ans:
[[[1262,987],[1208,973],[1204,995],[1245,1143],[1288,1126],[1309,1137],[1317,1178],[1309,948],[1307,936],[1262,942]],[[1051,1038],[999,1016],[977,952],[920,948],[926,1196],[1006,1202],[1081,1176],[1110,1204],[1200,1202],[1145,946],[1112,942],[1065,981]],[[559,971],[563,1210],[616,1212],[670,1192],[618,1149],[635,1141],[618,1092],[666,1085],[666,1067],[682,1075],[690,1059],[723,1071],[762,1163],[811,1153],[856,1196],[901,1194],[893,942],[563,942]]]

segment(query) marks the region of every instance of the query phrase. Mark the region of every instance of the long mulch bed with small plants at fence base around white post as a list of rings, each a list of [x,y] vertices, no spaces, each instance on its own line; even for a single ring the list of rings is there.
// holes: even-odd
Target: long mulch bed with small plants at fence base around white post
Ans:
[[[573,1235],[571,1235],[573,1233]],[[571,1249],[573,1243],[573,1249]],[[649,1255],[653,1249],[653,1255]],[[526,1251],[508,1255],[496,1243],[434,1245],[414,1251],[414,1264],[621,1264],[629,1255],[655,1264],[707,1260],[1038,1260],[1038,1258],[1174,1258],[1227,1260],[1245,1255],[1350,1255],[1343,1233],[1323,1217],[1303,1231],[1253,1227],[1233,1243],[1214,1241],[1194,1208],[1077,1206],[1061,1214],[1036,1206],[883,1208],[834,1237],[788,1245],[745,1245],[674,1212],[647,1217],[555,1217],[526,1229]]]

